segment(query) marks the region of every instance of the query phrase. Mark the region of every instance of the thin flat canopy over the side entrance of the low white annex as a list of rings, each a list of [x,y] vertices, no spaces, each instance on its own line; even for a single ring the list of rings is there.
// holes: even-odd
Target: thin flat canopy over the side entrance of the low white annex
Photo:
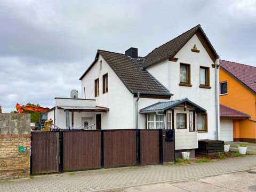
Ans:
[[[58,109],[65,109],[68,111],[79,111],[79,112],[107,112],[109,108],[107,107],[80,107],[80,106],[57,106]]]

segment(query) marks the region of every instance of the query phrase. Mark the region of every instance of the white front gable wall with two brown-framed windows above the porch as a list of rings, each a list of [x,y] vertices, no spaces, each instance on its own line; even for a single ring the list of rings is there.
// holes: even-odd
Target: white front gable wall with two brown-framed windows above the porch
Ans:
[[[199,53],[191,51],[194,44],[196,44],[197,49],[200,50]],[[207,110],[208,132],[198,133],[198,139],[215,139],[217,124],[215,122],[215,78],[214,68],[212,68],[212,64],[214,63],[196,35],[182,47],[182,49],[175,55],[175,58],[179,58],[177,62],[166,60],[162,62],[161,65],[148,67],[147,70],[174,94],[171,99],[187,97],[189,100]],[[179,86],[180,63],[190,64],[191,87]],[[200,66],[209,67],[210,69],[211,89],[199,88]],[[217,86],[219,86],[219,80]]]

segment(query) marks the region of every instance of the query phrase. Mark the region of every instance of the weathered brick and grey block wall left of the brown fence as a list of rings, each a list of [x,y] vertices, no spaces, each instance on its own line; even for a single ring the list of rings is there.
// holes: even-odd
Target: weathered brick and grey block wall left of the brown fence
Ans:
[[[30,175],[30,114],[0,114],[0,179]]]

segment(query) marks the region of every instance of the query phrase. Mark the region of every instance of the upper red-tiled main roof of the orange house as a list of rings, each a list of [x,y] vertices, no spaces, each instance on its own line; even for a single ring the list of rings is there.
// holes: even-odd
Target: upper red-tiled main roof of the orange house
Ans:
[[[220,66],[256,93],[256,67],[225,60],[220,60]]]

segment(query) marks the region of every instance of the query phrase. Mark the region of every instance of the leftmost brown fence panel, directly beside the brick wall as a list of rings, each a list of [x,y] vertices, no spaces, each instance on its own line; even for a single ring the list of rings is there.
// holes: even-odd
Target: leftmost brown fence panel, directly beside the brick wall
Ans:
[[[31,132],[32,174],[59,172],[59,132]]]

